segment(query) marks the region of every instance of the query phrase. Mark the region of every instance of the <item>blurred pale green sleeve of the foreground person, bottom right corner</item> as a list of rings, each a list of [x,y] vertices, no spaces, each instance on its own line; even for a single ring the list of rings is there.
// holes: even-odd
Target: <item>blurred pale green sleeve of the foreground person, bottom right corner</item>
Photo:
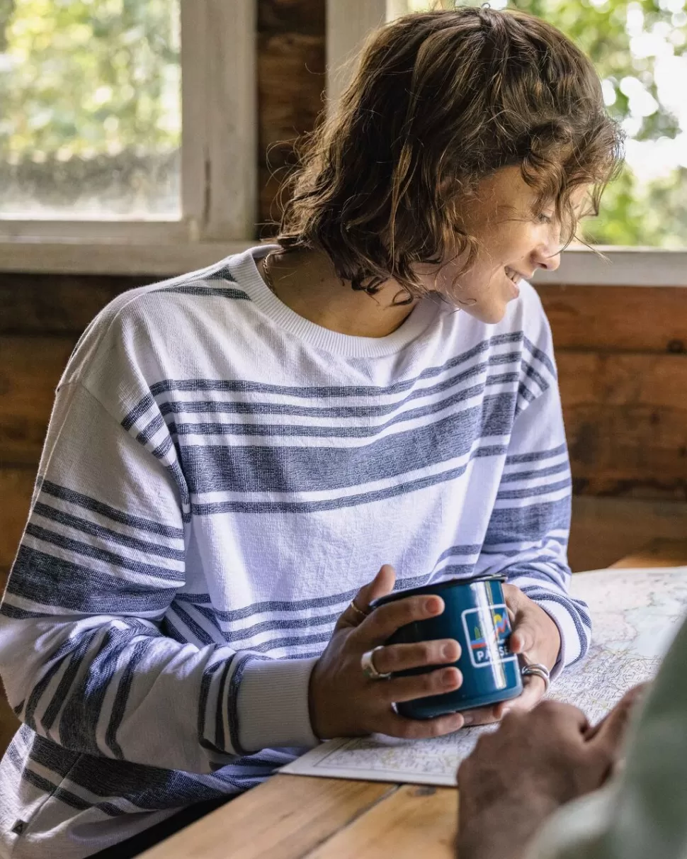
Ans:
[[[687,856],[687,623],[670,649],[628,743],[621,777],[554,814],[526,859]]]

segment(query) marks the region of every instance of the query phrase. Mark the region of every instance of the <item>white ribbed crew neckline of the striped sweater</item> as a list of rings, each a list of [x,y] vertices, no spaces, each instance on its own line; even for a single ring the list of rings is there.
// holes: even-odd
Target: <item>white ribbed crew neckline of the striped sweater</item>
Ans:
[[[439,314],[439,307],[431,299],[423,299],[413,308],[403,325],[386,337],[354,337],[316,325],[280,301],[260,277],[256,260],[279,249],[279,245],[251,247],[236,254],[229,268],[241,288],[245,289],[251,301],[265,316],[283,331],[318,349],[356,358],[392,355],[427,331]]]

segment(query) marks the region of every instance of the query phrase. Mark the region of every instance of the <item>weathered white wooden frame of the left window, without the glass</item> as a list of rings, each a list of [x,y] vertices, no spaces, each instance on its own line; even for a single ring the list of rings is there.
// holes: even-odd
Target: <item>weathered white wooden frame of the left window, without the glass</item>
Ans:
[[[0,218],[0,270],[167,274],[254,243],[257,3],[180,0],[181,217]]]

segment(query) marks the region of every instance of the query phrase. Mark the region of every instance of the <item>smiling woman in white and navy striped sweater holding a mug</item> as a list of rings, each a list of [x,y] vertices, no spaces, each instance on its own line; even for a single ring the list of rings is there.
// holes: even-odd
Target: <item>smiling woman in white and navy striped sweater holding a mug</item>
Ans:
[[[502,716],[398,716],[461,677],[453,640],[383,646],[443,608],[368,616],[394,586],[500,572],[512,648],[553,676],[581,659],[556,370],[526,278],[556,268],[619,144],[554,27],[401,18],[313,135],[274,245],[94,320],[3,600],[24,722],[0,768],[4,856],[134,856],[318,740]],[[528,677],[509,705],[543,691]]]

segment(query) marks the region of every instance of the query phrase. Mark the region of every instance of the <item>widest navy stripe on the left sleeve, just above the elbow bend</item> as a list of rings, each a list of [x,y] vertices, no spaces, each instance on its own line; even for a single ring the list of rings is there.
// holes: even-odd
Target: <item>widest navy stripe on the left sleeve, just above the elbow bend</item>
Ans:
[[[21,545],[7,592],[31,601],[40,597],[41,604],[56,609],[55,614],[64,608],[83,614],[137,615],[164,612],[182,585],[179,581],[168,588],[150,588]]]

